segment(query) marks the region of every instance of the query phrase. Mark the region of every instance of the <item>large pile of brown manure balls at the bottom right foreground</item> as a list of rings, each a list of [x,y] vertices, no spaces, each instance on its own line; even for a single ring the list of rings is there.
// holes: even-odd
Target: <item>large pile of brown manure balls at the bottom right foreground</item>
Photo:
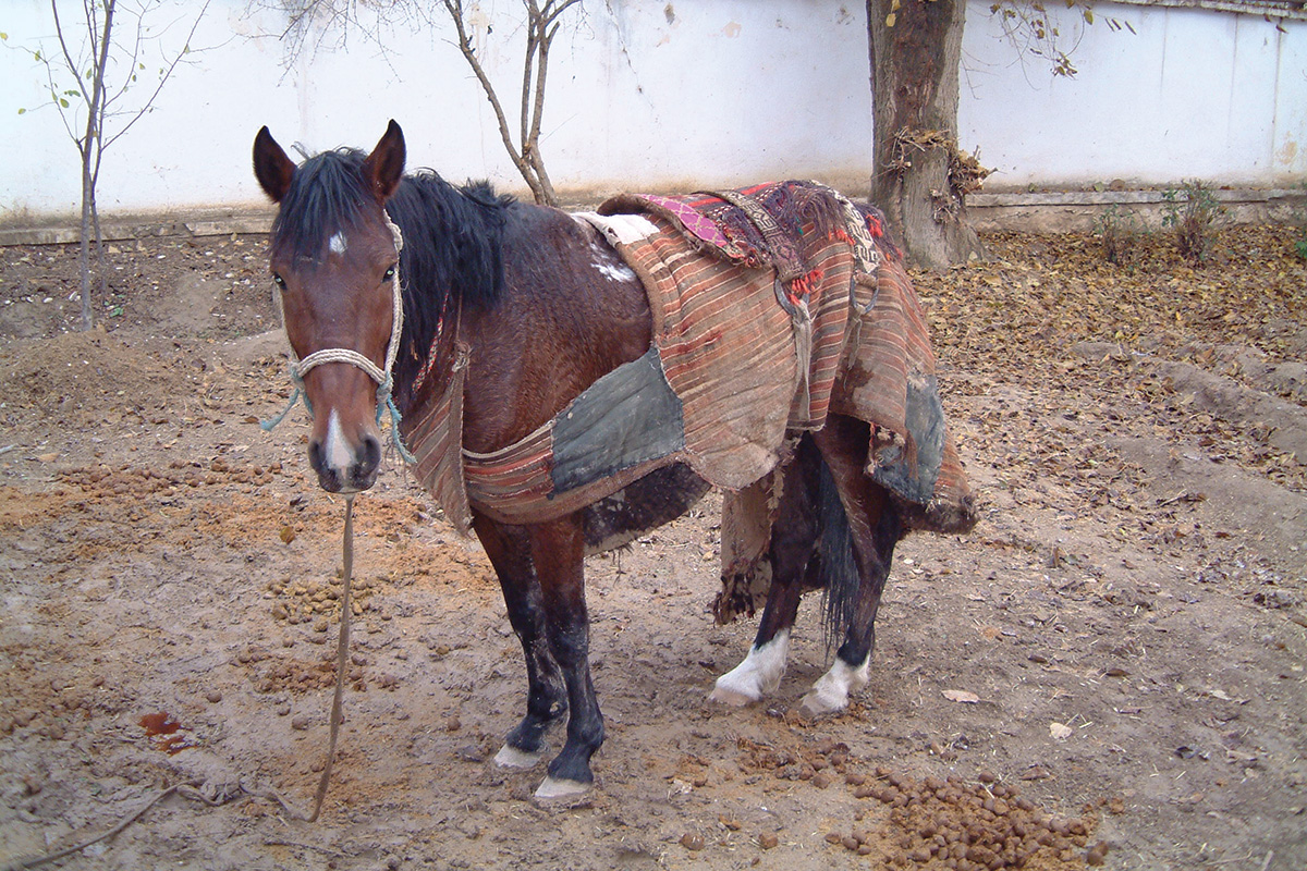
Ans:
[[[1080,817],[1053,817],[1021,795],[1017,786],[980,773],[979,784],[959,777],[915,781],[886,768],[876,769],[874,782],[861,774],[846,776],[856,798],[870,798],[889,810],[889,827],[859,825],[831,832],[826,840],[893,868],[949,868],[1000,871],[1029,868],[1053,871],[1102,864],[1108,846],[1090,846],[1098,828],[1094,806]],[[867,820],[855,815],[855,824]]]

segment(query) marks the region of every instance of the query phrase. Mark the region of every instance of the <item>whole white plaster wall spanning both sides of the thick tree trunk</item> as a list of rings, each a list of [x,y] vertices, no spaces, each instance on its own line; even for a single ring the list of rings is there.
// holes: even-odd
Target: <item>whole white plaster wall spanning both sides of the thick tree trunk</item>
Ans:
[[[178,20],[162,40],[175,43],[201,4],[169,3],[173,12],[156,21]],[[999,168],[999,185],[1307,176],[1307,24],[1280,33],[1247,16],[1100,7],[1137,35],[1095,25],[1076,51],[1080,77],[1051,81],[996,38],[987,4],[968,10],[958,120],[963,145]],[[319,150],[367,148],[395,118],[410,165],[523,188],[448,25],[399,22],[382,29],[380,44],[356,33],[346,48],[328,40],[284,69],[284,46],[264,35],[280,33],[284,18],[248,5],[210,3],[192,46],[212,48],[192,54],[156,110],[106,155],[102,212],[259,202],[248,167],[263,124],[284,145]],[[520,3],[482,0],[480,12],[478,52],[511,114]],[[42,103],[44,71],[17,47],[54,50],[48,14],[46,0],[7,0],[0,12],[0,223],[78,208],[77,154],[58,112],[18,115]],[[554,44],[542,138],[561,191],[778,176],[865,187],[860,0],[586,0],[572,22]]]

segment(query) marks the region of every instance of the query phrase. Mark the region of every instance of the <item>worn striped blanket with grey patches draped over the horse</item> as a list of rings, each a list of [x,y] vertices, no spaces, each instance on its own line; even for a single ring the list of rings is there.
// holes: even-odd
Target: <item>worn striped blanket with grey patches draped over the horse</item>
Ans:
[[[654,345],[490,454],[448,449],[455,397],[438,404],[444,419],[406,426],[417,478],[451,521],[467,529],[471,503],[538,522],[673,464],[742,492],[776,467],[787,439],[836,411],[872,424],[868,474],[910,526],[974,524],[920,304],[878,214],[806,183],[746,189],[745,206],[761,202],[769,221],[736,193],[623,196],[578,215],[644,283]]]

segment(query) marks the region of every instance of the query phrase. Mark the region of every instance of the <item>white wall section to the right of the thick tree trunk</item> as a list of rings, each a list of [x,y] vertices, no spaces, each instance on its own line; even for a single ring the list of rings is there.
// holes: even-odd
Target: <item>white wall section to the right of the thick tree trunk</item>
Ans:
[[[1063,35],[1080,37],[1073,80],[1019,60],[983,4],[968,7],[958,128],[997,170],[987,188],[1307,178],[1307,22],[1098,4],[1085,26],[1055,5]]]

